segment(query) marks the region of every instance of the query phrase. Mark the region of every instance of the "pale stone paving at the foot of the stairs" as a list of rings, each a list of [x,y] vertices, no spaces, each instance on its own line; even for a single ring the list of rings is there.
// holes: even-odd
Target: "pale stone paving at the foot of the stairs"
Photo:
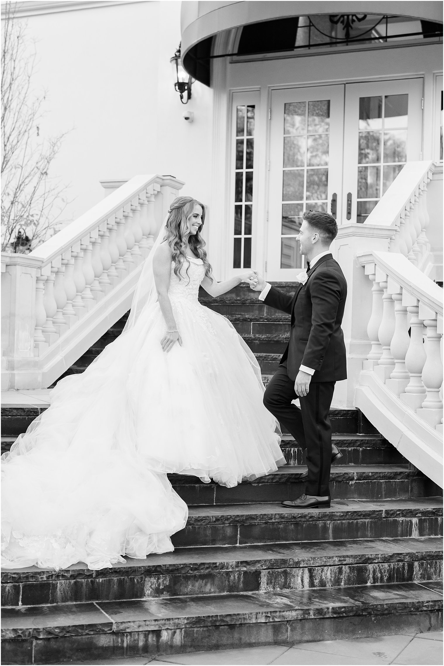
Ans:
[[[443,663],[443,633],[411,633],[393,636],[265,645],[234,650],[192,652],[183,655],[128,657],[127,659],[76,661],[72,666],[130,666],[132,664],[184,664],[194,666],[237,666],[276,664],[288,666],[334,666],[361,664],[404,664],[440,666]]]

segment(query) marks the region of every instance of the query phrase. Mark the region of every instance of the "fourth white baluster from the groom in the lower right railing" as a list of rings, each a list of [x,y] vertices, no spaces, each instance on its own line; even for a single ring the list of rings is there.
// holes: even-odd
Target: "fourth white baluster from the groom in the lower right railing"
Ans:
[[[421,379],[423,367],[425,364],[425,348],[423,344],[423,322],[418,318],[418,300],[403,289],[403,305],[407,306],[407,312],[410,317],[410,342],[407,354],[405,354],[405,368],[409,373],[410,380],[405,387],[405,393],[401,393],[399,398],[413,412],[421,407],[425,398],[425,386]]]

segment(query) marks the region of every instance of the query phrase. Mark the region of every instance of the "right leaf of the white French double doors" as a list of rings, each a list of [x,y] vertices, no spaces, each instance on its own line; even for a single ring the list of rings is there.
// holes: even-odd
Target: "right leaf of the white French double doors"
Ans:
[[[403,165],[421,159],[422,90],[422,79],[346,85],[342,222],[365,222]]]

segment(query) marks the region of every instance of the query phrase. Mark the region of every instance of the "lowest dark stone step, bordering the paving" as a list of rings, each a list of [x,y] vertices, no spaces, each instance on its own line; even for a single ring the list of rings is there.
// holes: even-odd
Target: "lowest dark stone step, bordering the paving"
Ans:
[[[3,663],[54,664],[436,631],[442,583],[391,583],[3,611]]]

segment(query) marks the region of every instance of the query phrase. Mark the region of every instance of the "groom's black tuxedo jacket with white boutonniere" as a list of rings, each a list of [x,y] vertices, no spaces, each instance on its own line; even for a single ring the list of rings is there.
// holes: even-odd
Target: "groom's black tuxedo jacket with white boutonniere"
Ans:
[[[293,296],[271,287],[265,305],[291,315],[290,340],[280,359],[296,379],[302,364],[313,368],[312,382],[338,382],[347,378],[346,348],[341,323],[347,282],[332,254],[325,254],[307,272]]]

